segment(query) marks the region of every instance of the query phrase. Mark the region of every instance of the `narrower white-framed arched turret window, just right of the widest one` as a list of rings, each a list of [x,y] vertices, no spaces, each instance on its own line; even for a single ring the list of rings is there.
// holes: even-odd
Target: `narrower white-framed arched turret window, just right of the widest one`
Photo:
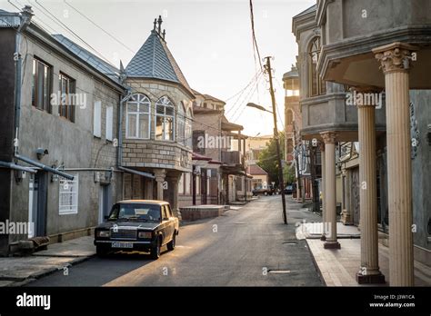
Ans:
[[[162,96],[155,103],[155,139],[174,141],[174,110],[174,104],[167,96]]]

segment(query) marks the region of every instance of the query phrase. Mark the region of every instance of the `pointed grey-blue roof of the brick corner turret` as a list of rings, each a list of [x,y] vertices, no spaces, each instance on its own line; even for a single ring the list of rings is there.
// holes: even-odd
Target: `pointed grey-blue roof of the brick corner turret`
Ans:
[[[193,94],[165,40],[155,30],[151,31],[151,35],[127,64],[125,73],[128,77],[154,78],[182,84]]]

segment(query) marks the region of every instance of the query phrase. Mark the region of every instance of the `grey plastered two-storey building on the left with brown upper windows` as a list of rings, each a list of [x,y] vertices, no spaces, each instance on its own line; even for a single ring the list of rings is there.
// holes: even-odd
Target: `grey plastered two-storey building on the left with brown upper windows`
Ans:
[[[0,221],[29,224],[0,235],[3,255],[28,238],[87,234],[122,197],[117,70],[32,15],[0,11]]]

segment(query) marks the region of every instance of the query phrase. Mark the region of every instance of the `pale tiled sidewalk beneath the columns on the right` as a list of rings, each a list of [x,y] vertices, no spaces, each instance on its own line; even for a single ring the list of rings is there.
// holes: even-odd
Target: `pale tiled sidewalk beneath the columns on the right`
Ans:
[[[347,228],[347,231],[349,230],[348,227],[351,229],[356,229],[355,226],[345,227]],[[323,242],[321,242],[319,239],[316,239],[313,234],[310,234],[308,237],[306,237],[306,242],[310,252],[313,254],[316,266],[318,267],[318,270],[326,282],[326,285],[370,286],[366,284],[359,285],[356,282],[356,272],[359,271],[361,262],[361,240],[357,239],[357,237],[356,239],[346,239],[346,235],[343,234],[340,234],[340,237],[341,239],[338,240],[338,242],[341,244],[340,250],[324,249]],[[386,284],[381,284],[379,286],[388,286],[389,249],[381,243],[378,244],[378,264],[380,271],[385,275],[386,279]],[[431,286],[430,266],[415,261],[415,285]]]

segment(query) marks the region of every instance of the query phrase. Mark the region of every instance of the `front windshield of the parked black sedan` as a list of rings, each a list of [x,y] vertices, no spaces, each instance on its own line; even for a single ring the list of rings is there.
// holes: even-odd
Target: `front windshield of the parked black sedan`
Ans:
[[[160,205],[145,203],[116,203],[112,207],[108,220],[160,222]]]

